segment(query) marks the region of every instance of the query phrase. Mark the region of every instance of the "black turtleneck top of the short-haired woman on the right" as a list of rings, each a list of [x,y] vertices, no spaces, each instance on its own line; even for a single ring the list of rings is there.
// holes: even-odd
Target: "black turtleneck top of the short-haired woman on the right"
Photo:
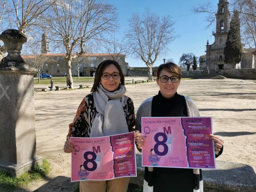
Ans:
[[[165,99],[161,92],[152,100],[152,117],[188,117],[184,96]],[[145,170],[148,171],[148,170]],[[193,192],[193,169],[154,167],[154,192]]]

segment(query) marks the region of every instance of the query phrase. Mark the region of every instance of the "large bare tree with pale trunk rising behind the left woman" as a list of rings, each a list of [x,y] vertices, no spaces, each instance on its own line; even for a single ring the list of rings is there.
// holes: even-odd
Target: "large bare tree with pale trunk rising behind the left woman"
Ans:
[[[66,83],[71,89],[71,62],[85,52],[86,43],[104,39],[116,24],[116,8],[100,0],[57,0],[53,4],[45,25],[55,42],[65,47]],[[75,53],[75,49],[79,52]]]

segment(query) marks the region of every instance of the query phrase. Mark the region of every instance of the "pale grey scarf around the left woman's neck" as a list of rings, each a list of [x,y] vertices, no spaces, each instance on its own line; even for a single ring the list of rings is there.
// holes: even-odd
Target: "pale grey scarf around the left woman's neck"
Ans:
[[[101,84],[98,86],[98,90],[93,92],[93,99],[98,113],[93,120],[90,137],[102,137],[128,132],[123,109],[127,102],[124,96],[125,92],[124,85],[120,85],[120,89],[115,92],[109,92]]]

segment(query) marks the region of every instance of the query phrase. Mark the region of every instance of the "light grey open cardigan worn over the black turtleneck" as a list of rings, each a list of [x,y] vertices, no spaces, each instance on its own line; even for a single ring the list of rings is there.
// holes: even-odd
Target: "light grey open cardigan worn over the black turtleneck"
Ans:
[[[187,107],[187,112],[189,117],[199,117],[199,110],[194,103],[192,99],[189,97],[185,97],[186,101],[186,107]],[[152,109],[152,100],[153,97],[150,97],[143,101],[136,113],[136,124],[135,124],[135,129],[139,130],[141,132],[141,117],[151,117],[151,109]],[[148,167],[148,171],[153,171],[153,167]],[[199,169],[193,169],[193,173],[196,175],[196,186],[194,186],[194,192],[202,192],[203,191],[203,180],[202,178],[202,173],[199,171]],[[152,178],[153,179],[153,178]],[[147,185],[147,186],[145,186]],[[144,180],[144,188],[145,191],[153,191],[154,186],[148,186],[148,181]]]

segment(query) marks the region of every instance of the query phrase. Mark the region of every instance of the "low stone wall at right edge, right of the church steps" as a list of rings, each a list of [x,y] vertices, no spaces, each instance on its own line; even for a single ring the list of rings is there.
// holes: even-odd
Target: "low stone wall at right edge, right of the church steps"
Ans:
[[[256,68],[221,70],[220,75],[235,79],[256,79]]]

